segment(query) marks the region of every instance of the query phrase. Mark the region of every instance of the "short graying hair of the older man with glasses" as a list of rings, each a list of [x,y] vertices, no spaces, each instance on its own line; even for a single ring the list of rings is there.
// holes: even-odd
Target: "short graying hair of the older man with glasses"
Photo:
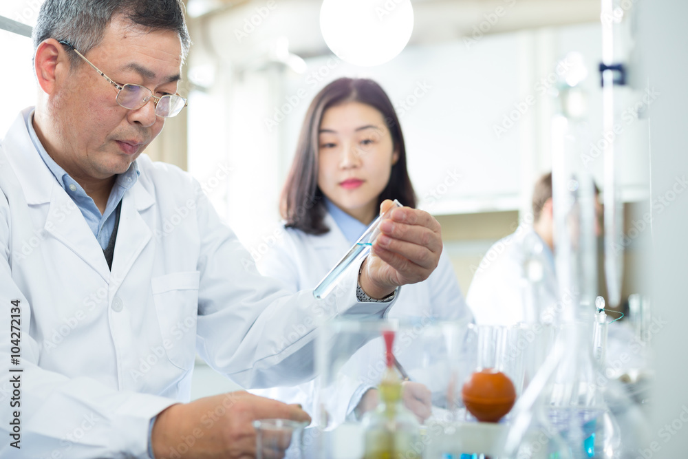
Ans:
[[[103,41],[107,25],[117,14],[151,31],[177,32],[182,58],[186,58],[191,39],[182,0],[45,0],[33,31],[34,50],[44,40],[56,39],[86,54]],[[72,64],[81,62],[72,53]]]

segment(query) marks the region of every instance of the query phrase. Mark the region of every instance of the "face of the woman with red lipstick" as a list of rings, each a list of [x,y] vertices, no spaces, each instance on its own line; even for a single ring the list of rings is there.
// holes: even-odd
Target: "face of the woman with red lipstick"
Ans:
[[[330,201],[369,224],[378,196],[398,160],[383,115],[374,107],[347,102],[325,110],[319,129],[318,186]]]

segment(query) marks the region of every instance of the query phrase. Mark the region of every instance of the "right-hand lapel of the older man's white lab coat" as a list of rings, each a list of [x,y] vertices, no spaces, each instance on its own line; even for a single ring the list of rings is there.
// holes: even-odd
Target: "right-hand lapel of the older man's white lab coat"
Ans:
[[[119,287],[136,258],[151,240],[151,228],[140,212],[148,209],[154,202],[153,196],[140,182],[122,197],[120,224],[112,258],[111,279],[114,281],[111,282],[111,289],[116,290]]]

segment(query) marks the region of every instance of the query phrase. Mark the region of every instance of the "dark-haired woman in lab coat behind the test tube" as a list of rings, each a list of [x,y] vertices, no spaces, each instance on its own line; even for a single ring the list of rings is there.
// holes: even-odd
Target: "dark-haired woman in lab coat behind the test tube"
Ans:
[[[372,80],[332,81],[312,100],[303,120],[281,194],[286,231],[261,258],[259,270],[279,279],[292,292],[314,288],[377,217],[380,202],[387,199],[416,206],[394,107]],[[402,290],[387,314],[390,319],[473,320],[445,253],[427,280]],[[357,352],[347,365],[368,367],[381,358],[372,351],[372,344]],[[317,417],[319,383],[253,392],[299,403]],[[354,382],[338,387],[337,392],[338,400],[327,412],[328,423],[361,416],[378,401],[377,389],[371,385]],[[404,398],[421,420],[430,415],[431,394],[424,385],[405,383]]]

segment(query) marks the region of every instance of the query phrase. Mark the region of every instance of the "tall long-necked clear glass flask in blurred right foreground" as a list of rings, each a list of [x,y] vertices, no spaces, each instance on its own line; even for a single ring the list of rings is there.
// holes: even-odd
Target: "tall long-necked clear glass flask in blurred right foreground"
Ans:
[[[508,458],[616,458],[619,429],[592,354],[597,288],[594,182],[581,161],[588,141],[587,72],[579,55],[559,83],[552,120],[552,201],[561,328],[552,352],[524,390],[504,440]],[[551,434],[551,436],[549,436]],[[539,439],[547,439],[542,442]]]

